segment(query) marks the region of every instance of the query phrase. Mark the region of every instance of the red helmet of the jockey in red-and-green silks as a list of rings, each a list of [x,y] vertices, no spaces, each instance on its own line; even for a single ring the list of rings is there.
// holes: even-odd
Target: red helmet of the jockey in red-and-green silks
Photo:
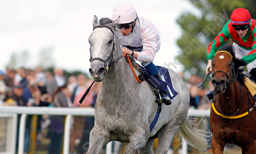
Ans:
[[[251,15],[247,9],[239,8],[232,12],[230,19],[232,25],[244,25],[250,23]]]

